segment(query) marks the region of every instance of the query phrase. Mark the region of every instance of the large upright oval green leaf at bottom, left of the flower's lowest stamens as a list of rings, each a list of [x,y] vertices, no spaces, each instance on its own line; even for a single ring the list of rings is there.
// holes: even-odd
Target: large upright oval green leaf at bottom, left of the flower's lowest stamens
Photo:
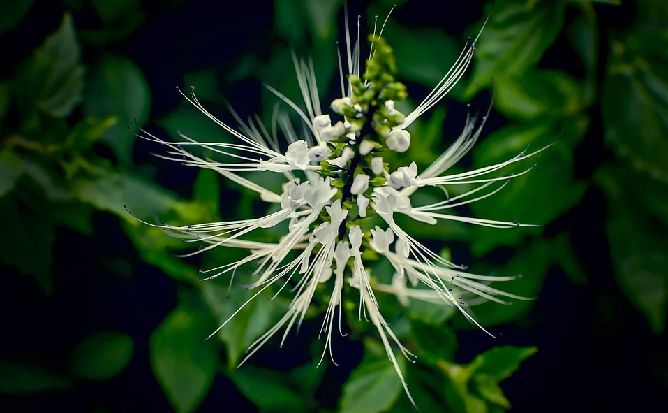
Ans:
[[[181,302],[151,334],[151,368],[177,413],[194,412],[211,388],[218,368],[205,309]]]

